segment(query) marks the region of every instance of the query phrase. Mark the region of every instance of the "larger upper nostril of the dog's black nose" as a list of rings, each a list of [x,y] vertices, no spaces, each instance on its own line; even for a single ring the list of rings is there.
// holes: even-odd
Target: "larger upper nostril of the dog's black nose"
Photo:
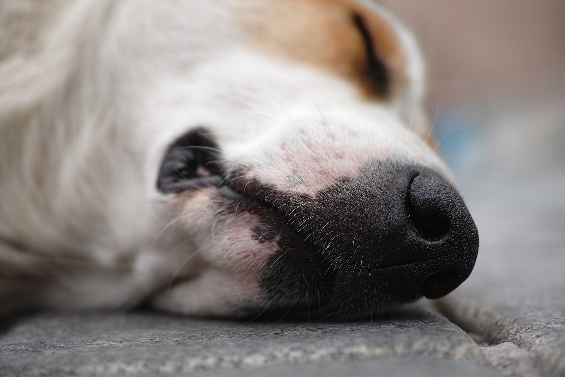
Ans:
[[[426,203],[412,201],[414,196],[411,195],[410,189],[416,177],[412,179],[408,194],[406,195],[406,212],[408,218],[424,239],[442,239],[447,234],[447,231],[449,231],[449,222],[447,222],[444,216],[434,214],[433,211],[430,211],[430,209],[427,208],[429,205],[426,205]]]

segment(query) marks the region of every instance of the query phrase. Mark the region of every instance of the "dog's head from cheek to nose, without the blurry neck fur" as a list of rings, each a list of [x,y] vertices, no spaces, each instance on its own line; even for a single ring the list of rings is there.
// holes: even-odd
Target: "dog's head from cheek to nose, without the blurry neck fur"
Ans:
[[[477,229],[427,143],[423,68],[398,21],[347,0],[212,13],[192,20],[206,33],[186,67],[153,57],[169,66],[140,106],[159,237],[188,240],[155,304],[347,319],[457,288]]]

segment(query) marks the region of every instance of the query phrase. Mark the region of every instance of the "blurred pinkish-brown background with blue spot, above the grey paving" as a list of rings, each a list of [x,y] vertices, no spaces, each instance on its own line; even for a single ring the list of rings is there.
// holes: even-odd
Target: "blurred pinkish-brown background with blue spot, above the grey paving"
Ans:
[[[415,32],[439,150],[477,174],[565,168],[564,0],[381,0]]]

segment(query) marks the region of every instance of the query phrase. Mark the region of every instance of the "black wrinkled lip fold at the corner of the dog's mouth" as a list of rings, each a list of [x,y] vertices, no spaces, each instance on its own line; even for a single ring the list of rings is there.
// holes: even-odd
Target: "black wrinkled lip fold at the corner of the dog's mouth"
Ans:
[[[157,180],[164,193],[179,193],[206,185],[220,185],[220,151],[205,129],[181,136],[167,149]]]

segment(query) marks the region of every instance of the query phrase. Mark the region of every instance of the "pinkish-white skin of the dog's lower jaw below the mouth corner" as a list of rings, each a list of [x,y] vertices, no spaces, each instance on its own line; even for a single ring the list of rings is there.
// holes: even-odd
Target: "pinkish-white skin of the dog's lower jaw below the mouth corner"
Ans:
[[[259,216],[245,210],[221,214],[215,187],[182,194],[175,202],[180,230],[191,237],[204,262],[193,276],[154,298],[154,305],[188,314],[234,317],[263,310],[260,280],[271,256],[279,252],[279,236],[261,239],[253,229]]]

